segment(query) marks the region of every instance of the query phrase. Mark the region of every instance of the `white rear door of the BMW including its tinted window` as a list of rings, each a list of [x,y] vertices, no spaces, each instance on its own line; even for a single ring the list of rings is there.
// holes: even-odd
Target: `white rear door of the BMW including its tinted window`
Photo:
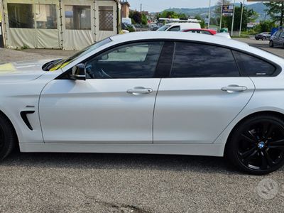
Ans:
[[[155,102],[154,143],[213,143],[254,89],[249,77],[240,77],[231,50],[175,43],[169,77],[161,80]]]

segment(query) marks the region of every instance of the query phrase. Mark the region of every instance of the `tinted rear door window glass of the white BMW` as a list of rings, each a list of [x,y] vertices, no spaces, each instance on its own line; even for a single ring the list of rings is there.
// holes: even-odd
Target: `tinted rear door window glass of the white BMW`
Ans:
[[[231,50],[197,43],[176,43],[170,77],[234,77],[239,69]]]

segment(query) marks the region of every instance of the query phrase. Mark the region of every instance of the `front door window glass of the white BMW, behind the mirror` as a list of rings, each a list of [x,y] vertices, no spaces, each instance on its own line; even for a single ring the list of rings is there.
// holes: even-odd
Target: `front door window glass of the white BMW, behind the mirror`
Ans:
[[[151,78],[155,75],[163,42],[121,45],[86,62],[88,79]]]

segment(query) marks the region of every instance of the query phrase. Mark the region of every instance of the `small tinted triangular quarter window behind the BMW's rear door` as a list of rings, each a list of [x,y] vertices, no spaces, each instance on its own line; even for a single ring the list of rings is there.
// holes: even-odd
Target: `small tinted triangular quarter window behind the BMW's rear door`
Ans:
[[[242,75],[273,75],[275,72],[275,67],[264,60],[237,51],[233,51],[233,53]]]

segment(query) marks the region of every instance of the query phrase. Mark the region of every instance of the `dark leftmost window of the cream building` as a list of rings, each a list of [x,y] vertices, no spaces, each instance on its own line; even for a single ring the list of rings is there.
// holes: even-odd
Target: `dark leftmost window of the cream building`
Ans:
[[[7,4],[10,28],[35,28],[33,4]]]

